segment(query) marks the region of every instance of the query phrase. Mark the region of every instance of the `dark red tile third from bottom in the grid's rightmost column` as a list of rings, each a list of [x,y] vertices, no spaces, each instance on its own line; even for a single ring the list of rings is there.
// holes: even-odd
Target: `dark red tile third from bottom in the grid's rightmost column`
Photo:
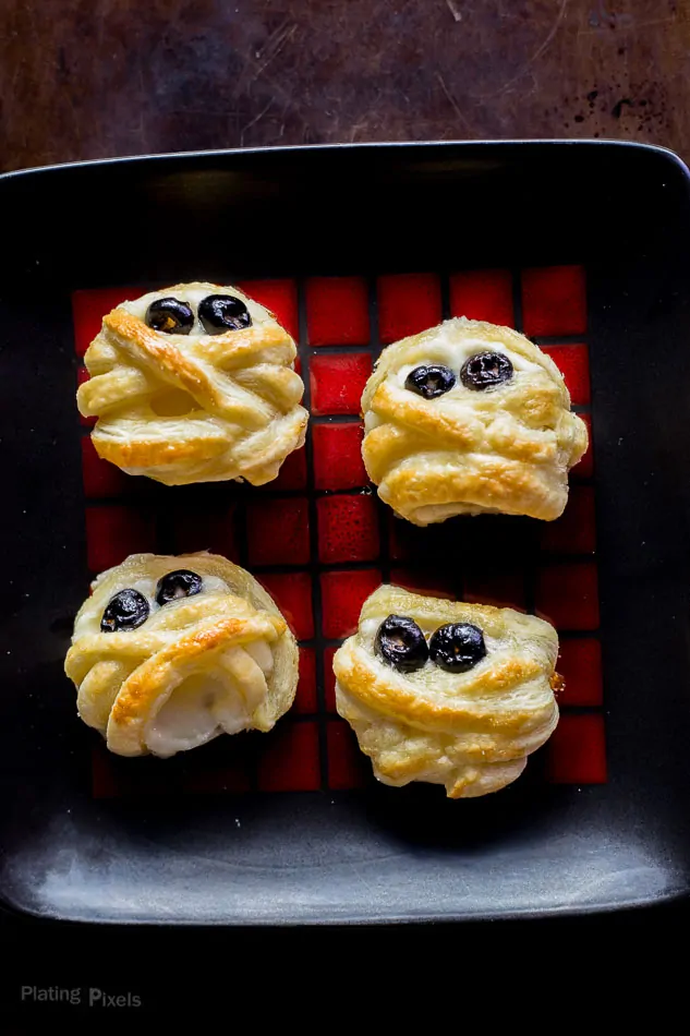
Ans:
[[[593,562],[565,562],[541,568],[536,611],[557,629],[597,629],[598,583]]]

